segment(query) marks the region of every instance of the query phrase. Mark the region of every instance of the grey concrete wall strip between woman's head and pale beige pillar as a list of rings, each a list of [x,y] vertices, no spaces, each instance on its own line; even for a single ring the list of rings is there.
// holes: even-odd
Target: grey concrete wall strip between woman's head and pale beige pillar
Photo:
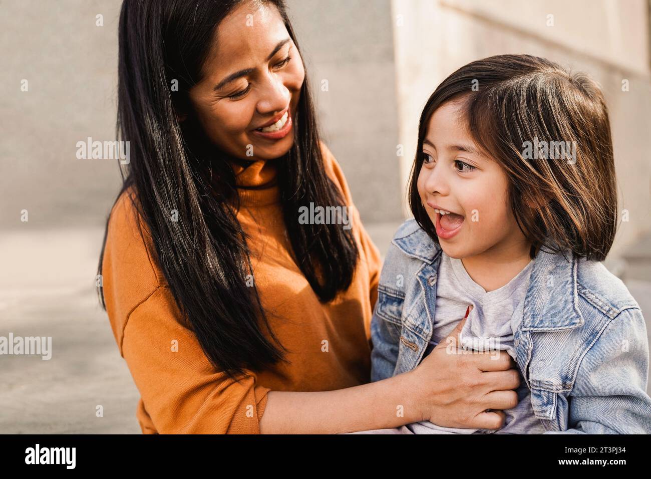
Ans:
[[[365,222],[399,222],[395,62],[389,0],[289,0],[324,141]],[[317,20],[318,19],[318,20]],[[327,81],[327,91],[322,85]]]

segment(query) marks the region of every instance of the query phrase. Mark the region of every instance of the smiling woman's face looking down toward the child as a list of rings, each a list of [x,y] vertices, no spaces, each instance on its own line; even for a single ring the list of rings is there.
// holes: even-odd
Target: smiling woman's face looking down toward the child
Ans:
[[[290,150],[305,70],[273,5],[235,8],[219,23],[202,71],[189,98],[219,149],[247,160],[279,158]],[[279,119],[279,131],[259,131]]]

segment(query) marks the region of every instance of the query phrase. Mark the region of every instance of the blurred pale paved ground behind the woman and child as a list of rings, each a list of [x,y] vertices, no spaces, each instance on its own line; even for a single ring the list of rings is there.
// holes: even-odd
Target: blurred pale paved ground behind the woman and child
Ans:
[[[367,225],[382,253],[396,227]],[[51,360],[0,356],[0,433],[140,432],[138,391],[94,295],[101,240],[99,229],[0,238],[0,336],[53,338]],[[628,287],[651,318],[651,282]]]

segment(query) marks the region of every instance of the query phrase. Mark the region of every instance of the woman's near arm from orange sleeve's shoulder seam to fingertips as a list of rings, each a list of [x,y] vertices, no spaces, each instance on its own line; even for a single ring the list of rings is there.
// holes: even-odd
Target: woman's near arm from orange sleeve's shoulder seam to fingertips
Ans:
[[[275,391],[255,373],[237,383],[215,370],[173,308],[169,289],[156,289],[118,341],[159,433],[344,433],[419,420],[497,429],[504,413],[484,411],[513,407],[508,389],[518,375],[506,371],[510,356],[450,355],[447,341],[413,371],[341,390]]]

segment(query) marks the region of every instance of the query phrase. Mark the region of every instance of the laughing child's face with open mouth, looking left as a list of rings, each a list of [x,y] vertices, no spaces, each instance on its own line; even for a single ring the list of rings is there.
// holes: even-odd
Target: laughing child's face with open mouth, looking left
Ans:
[[[417,182],[422,204],[450,257],[521,254],[525,238],[508,206],[506,173],[473,141],[460,106],[443,104],[428,124]]]

